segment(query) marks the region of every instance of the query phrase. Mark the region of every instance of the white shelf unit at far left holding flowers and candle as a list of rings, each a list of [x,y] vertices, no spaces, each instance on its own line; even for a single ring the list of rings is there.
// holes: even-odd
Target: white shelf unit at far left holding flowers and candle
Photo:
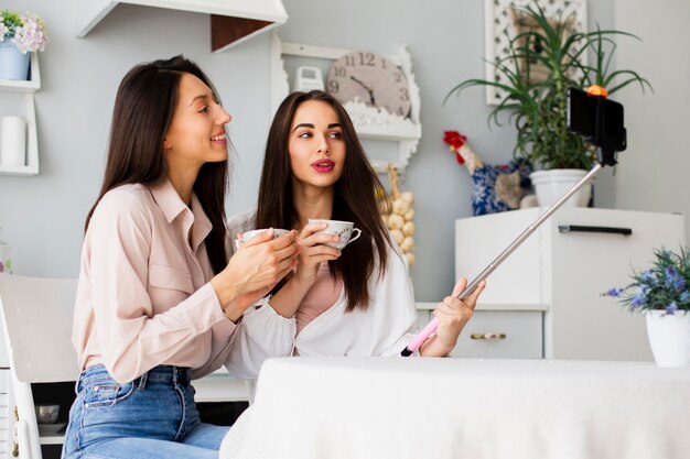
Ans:
[[[39,136],[33,94],[41,88],[39,57],[31,53],[31,79],[0,79],[0,116],[14,114],[26,120],[26,165],[3,166],[0,175],[31,176],[39,174]],[[0,135],[2,133],[0,132]]]

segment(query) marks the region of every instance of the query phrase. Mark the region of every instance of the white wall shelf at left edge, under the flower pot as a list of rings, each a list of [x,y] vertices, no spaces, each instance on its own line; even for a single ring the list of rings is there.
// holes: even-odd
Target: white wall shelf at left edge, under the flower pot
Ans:
[[[26,165],[4,166],[0,164],[0,175],[29,177],[39,174],[39,132],[36,128],[36,110],[33,94],[41,89],[41,69],[39,56],[31,53],[31,79],[0,79],[0,92],[24,92],[24,113],[26,119]],[[0,95],[0,97],[2,97]]]

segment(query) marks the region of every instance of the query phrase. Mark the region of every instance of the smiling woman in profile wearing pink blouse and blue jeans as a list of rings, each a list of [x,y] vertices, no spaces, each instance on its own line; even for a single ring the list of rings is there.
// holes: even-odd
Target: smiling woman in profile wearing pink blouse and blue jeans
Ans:
[[[297,265],[294,231],[228,262],[230,116],[182,56],[118,89],[105,178],[86,220],[73,342],[83,370],[63,458],[217,458],[190,381],[227,359],[238,319]]]

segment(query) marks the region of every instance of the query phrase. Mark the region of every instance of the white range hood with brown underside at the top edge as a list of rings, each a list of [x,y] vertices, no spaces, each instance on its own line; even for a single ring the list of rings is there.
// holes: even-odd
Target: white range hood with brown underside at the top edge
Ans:
[[[288,20],[282,0],[78,0],[77,36],[86,36],[120,3],[211,14],[213,52],[227,50]]]

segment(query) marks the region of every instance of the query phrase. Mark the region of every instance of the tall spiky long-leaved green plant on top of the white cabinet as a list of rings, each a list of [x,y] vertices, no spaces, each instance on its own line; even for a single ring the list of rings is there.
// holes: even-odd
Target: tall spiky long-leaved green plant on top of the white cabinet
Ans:
[[[615,30],[579,32],[571,19],[548,18],[538,6],[516,7],[514,12],[531,28],[511,37],[506,56],[492,63],[500,78],[467,79],[451,89],[445,100],[474,86],[496,88],[503,96],[489,112],[488,122],[502,125],[499,114],[509,114],[517,129],[514,155],[529,160],[540,170],[583,170],[574,174],[575,183],[592,167],[595,152],[568,129],[568,88],[599,85],[610,95],[630,83],[639,84],[643,91],[651,88],[636,72],[611,68],[616,48],[613,39],[636,36]],[[593,57],[593,64],[587,64],[586,57]],[[541,200],[541,205],[551,204]],[[589,199],[581,200],[586,204]]]

